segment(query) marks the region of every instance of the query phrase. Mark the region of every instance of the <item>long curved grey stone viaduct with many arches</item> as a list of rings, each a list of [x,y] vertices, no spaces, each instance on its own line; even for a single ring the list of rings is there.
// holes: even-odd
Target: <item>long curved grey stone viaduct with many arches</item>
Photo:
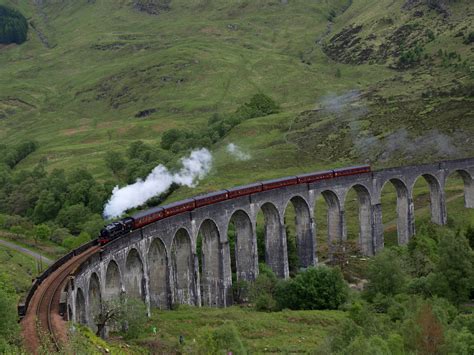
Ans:
[[[77,270],[67,285],[68,318],[93,324],[104,300],[126,294],[147,306],[173,303],[227,306],[232,303],[232,274],[227,232],[235,226],[237,278],[258,274],[256,220],[265,217],[265,259],[279,277],[288,277],[285,210],[296,212],[296,242],[300,267],[317,264],[314,206],[319,195],[328,206],[328,245],[346,238],[345,199],[349,190],[359,202],[359,247],[373,255],[384,247],[381,192],[386,184],[397,191],[398,243],[415,233],[413,188],[423,177],[430,188],[431,219],[447,220],[445,182],[458,172],[464,180],[465,206],[474,208],[474,159],[406,166],[288,186],[196,208],[160,220],[104,246]],[[197,241],[202,255],[196,254]],[[198,259],[201,258],[201,263]],[[201,266],[200,266],[201,265]]]

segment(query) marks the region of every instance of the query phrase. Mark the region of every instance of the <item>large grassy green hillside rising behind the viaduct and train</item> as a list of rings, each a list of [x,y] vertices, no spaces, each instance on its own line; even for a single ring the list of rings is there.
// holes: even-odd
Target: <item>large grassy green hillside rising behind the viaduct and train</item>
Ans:
[[[256,93],[279,113],[213,144],[199,191],[353,162],[474,155],[467,0],[0,4],[32,28],[23,45],[0,49],[0,139],[39,144],[16,169],[86,166],[116,182],[107,151],[201,129]],[[229,157],[229,143],[251,158]]]

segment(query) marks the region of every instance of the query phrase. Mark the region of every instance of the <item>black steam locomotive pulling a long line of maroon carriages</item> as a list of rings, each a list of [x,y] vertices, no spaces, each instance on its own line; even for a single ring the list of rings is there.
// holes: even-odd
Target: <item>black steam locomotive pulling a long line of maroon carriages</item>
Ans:
[[[285,186],[297,184],[309,184],[320,180],[328,180],[342,176],[358,175],[370,173],[369,165],[354,166],[344,169],[321,171],[298,176],[289,176],[281,179],[257,182],[250,185],[234,187],[229,190],[221,190],[206,195],[197,196],[187,200],[175,202],[163,207],[154,207],[146,211],[139,212],[132,217],[126,217],[119,221],[112,222],[100,231],[98,242],[104,245],[128,232],[146,226],[147,224],[159,221],[161,219],[175,216],[177,214],[192,211],[195,208],[211,205],[213,203],[229,200],[268,191]]]

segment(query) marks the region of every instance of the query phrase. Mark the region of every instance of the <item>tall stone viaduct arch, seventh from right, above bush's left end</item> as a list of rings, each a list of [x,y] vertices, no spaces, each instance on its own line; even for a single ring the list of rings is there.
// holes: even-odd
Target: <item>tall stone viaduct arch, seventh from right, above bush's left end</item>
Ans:
[[[277,207],[266,202],[261,210],[265,219],[265,263],[282,278],[289,276],[285,228]]]

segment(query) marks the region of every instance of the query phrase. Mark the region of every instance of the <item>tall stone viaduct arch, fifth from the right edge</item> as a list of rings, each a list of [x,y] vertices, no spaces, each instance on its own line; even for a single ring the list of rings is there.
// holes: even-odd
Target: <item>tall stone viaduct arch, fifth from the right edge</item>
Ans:
[[[341,209],[339,196],[334,191],[325,190],[321,195],[328,206],[328,257],[333,258],[335,243],[346,239],[344,211]]]

